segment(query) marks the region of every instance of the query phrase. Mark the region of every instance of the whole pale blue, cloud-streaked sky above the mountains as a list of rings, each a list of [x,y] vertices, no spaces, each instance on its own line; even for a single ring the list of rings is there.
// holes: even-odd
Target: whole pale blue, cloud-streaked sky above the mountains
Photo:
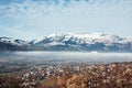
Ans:
[[[0,36],[98,32],[132,37],[132,0],[0,0]]]

